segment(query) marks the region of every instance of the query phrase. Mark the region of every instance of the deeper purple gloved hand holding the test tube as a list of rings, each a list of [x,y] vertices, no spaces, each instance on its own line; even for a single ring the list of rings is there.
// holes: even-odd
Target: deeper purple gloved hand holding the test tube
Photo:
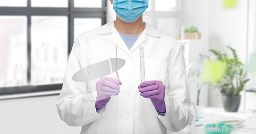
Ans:
[[[165,86],[161,81],[147,81],[141,83],[139,86],[139,92],[144,98],[150,98],[156,110],[160,113],[165,113]]]

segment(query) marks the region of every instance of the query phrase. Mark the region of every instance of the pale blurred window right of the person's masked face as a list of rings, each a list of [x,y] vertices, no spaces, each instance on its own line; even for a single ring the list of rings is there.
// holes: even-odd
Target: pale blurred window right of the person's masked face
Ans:
[[[143,21],[160,33],[178,38],[181,0],[150,0],[143,14]]]

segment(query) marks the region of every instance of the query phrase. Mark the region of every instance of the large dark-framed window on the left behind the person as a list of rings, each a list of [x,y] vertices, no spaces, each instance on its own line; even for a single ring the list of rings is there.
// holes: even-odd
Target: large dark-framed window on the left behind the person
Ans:
[[[105,16],[103,0],[0,0],[0,95],[60,90],[74,39]]]

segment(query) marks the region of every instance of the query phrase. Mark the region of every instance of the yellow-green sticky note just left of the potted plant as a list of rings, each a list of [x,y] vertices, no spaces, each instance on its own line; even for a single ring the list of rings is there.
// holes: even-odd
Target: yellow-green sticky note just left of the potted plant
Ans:
[[[207,82],[220,82],[223,76],[224,63],[208,61],[203,65],[202,79]]]

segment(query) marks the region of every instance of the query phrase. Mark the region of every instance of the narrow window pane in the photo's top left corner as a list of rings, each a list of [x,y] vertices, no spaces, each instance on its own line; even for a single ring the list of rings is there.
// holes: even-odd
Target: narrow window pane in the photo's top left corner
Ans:
[[[0,0],[2,7],[27,7],[27,0]]]

